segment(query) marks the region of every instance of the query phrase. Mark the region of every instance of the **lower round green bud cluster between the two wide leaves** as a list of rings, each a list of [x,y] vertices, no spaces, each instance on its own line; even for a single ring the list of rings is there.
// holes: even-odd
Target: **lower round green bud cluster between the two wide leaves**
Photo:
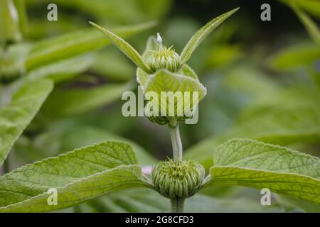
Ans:
[[[159,162],[152,170],[152,180],[158,192],[167,198],[188,198],[200,189],[205,177],[202,165],[193,161]]]

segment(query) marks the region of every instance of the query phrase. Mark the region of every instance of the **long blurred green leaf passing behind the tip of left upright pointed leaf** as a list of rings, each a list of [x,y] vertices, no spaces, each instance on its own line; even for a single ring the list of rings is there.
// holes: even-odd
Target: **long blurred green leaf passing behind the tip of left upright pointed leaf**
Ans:
[[[151,26],[154,26],[154,23],[141,23],[135,26],[117,28],[114,29],[114,32],[122,35],[122,37],[127,37]],[[31,70],[50,62],[101,48],[108,43],[108,40],[103,38],[94,28],[59,35],[36,43],[26,59],[25,65],[28,70]]]

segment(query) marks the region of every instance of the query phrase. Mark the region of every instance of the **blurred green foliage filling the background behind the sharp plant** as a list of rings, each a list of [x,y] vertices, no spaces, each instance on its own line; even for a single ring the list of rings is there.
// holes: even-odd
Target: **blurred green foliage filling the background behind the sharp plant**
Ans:
[[[181,126],[185,158],[198,160],[208,170],[218,145],[232,138],[285,145],[320,156],[320,2],[317,0],[272,1],[272,21],[266,22],[260,21],[260,1],[199,1],[197,7],[193,6],[194,1],[171,0],[0,2],[1,24],[4,21],[5,25],[0,26],[4,28],[0,30],[0,40],[21,42],[0,50],[0,77],[5,78],[6,83],[20,77],[9,85],[11,93],[15,94],[13,101],[0,110],[0,125],[4,126],[0,127],[0,134],[2,130],[9,135],[5,131],[9,128],[12,135],[0,141],[1,162],[16,140],[4,162],[6,170],[3,168],[2,172],[77,148],[81,148],[81,153],[81,150],[90,149],[82,147],[105,140],[120,140],[133,146],[137,160],[130,162],[133,165],[130,170],[121,167],[117,170],[128,175],[132,172],[139,175],[141,170],[136,163],[154,165],[155,157],[163,160],[171,156],[166,128],[151,124],[144,117],[122,116],[122,92],[137,93],[134,64],[107,45],[110,42],[91,28],[88,21],[95,21],[129,40],[140,53],[146,38],[159,31],[164,45],[172,44],[180,53],[206,21],[237,6],[240,11],[233,20],[217,28],[188,60],[188,65],[207,87],[207,96],[199,106],[198,123]],[[18,23],[12,21],[6,7],[2,7],[9,2],[16,6]],[[58,21],[46,19],[49,3],[58,5]],[[14,77],[6,78],[12,74]],[[52,87],[47,79],[54,82],[55,88],[40,109]],[[3,91],[3,87],[0,90]],[[4,94],[1,93],[1,99]],[[36,118],[26,128],[38,109]],[[23,121],[18,121],[21,116],[25,116]],[[60,156],[58,160],[69,155]],[[90,158],[87,160],[90,167],[101,167],[105,171],[99,179],[106,179],[107,168],[95,165],[97,163]],[[107,159],[101,160],[107,162]],[[41,166],[52,161],[36,163]],[[80,169],[85,167],[76,159],[70,161],[75,161],[72,163]],[[80,184],[90,187],[98,179],[90,178],[95,174],[93,169],[90,171],[82,172],[82,176],[89,177],[87,181],[70,185],[70,188],[80,187]],[[63,187],[65,182],[73,181],[75,172],[69,173],[68,177],[63,177],[65,172],[61,172],[64,183],[53,180],[53,186]],[[14,174],[18,174],[18,170],[6,177]],[[39,195],[41,199],[41,193],[45,192],[41,183],[47,180],[43,175],[32,195]],[[139,177],[133,181],[141,185]],[[16,187],[9,195],[10,203],[28,199],[31,194],[28,198],[16,199],[18,193],[28,187],[28,184]],[[67,195],[70,188],[65,187],[63,193]],[[186,201],[186,211],[319,212],[318,205],[272,195],[272,206],[261,206],[260,192],[255,189],[208,188]],[[36,207],[34,209],[36,211]],[[87,200],[66,211],[157,212],[168,209],[169,201],[150,189],[127,189]]]

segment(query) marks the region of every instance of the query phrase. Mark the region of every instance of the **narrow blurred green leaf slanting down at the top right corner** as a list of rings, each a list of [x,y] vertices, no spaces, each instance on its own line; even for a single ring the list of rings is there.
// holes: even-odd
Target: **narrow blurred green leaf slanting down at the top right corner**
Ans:
[[[311,20],[311,18],[302,11],[297,4],[290,4],[291,8],[294,10],[294,12],[299,16],[300,20],[306,27],[306,30],[308,31],[310,37],[314,40],[315,43],[320,45],[320,30],[316,23]],[[319,5],[320,6],[320,5]]]

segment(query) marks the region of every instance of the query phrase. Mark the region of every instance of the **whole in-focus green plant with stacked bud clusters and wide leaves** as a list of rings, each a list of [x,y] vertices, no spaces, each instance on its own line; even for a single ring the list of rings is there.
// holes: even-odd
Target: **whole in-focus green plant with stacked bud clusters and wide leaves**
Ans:
[[[225,13],[201,28],[186,44],[180,55],[162,46],[161,37],[149,38],[141,56],[114,33],[92,23],[137,65],[137,81],[148,101],[146,111],[161,111],[159,101],[147,92],[197,92],[174,102],[174,113],[188,104],[191,110],[206,95],[206,88],[186,65],[191,54],[214,28],[238,9]],[[40,86],[40,85],[39,85]],[[185,102],[187,101],[187,102]],[[160,108],[160,109],[159,109]],[[1,113],[0,113],[1,114]],[[183,160],[178,130],[180,121],[190,116],[150,115],[152,122],[168,125],[173,159],[153,167],[151,179],[137,164],[134,149],[128,143],[107,141],[70,153],[34,162],[0,177],[0,211],[50,211],[74,206],[86,199],[120,189],[146,187],[171,199],[173,212],[183,211],[183,202],[199,190],[220,185],[240,185],[286,194],[320,204],[320,160],[289,148],[249,139],[228,140],[212,150],[213,166]],[[55,206],[48,204],[48,189],[58,192]]]

